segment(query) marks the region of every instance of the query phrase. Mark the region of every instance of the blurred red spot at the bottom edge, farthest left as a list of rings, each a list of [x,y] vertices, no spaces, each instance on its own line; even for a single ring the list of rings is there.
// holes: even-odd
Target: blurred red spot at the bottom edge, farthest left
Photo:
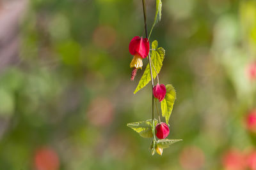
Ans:
[[[34,157],[36,170],[58,170],[60,160],[56,152],[51,148],[39,148]]]

